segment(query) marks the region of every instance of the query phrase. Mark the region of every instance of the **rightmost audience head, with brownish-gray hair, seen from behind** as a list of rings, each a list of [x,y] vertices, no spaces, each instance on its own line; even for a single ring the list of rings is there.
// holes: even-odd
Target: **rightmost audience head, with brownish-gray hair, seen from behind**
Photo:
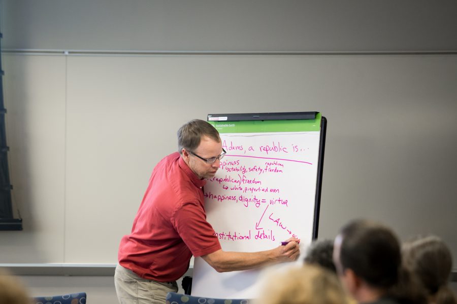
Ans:
[[[416,237],[403,245],[402,252],[405,267],[417,277],[433,302],[456,303],[455,294],[447,287],[452,255],[439,237]]]

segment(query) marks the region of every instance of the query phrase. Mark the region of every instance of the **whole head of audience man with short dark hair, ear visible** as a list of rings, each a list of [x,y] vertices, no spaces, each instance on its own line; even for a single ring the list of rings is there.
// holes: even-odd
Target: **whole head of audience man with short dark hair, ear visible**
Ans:
[[[367,220],[343,226],[335,239],[333,259],[343,285],[358,301],[382,296],[399,279],[400,245],[387,227]]]

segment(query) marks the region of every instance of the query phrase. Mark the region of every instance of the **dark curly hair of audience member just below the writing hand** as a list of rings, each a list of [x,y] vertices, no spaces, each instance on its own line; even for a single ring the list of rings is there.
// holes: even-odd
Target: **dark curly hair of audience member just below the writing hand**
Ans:
[[[305,264],[319,265],[336,274],[333,262],[333,241],[314,241],[306,252]]]

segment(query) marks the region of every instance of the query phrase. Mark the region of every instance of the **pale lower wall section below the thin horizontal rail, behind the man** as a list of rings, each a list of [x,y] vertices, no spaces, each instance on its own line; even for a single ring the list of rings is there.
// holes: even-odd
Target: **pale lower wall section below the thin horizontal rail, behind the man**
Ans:
[[[438,234],[456,252],[456,55],[4,61],[11,178],[25,227],[3,233],[14,244],[2,250],[7,262],[116,262],[179,126],[256,111],[319,110],[329,120],[320,237],[369,217],[403,239]]]

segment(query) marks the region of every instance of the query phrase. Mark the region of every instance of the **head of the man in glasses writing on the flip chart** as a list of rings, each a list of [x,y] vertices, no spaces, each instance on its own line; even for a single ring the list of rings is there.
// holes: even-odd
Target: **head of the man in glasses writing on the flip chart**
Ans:
[[[217,130],[199,119],[179,128],[178,150],[184,162],[200,178],[213,177],[225,154]]]

